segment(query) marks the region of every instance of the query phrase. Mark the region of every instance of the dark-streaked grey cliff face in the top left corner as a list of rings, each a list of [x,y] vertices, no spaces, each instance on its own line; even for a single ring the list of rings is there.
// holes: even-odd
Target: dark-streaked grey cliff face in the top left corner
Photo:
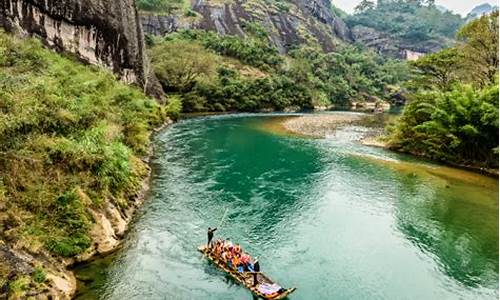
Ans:
[[[134,0],[0,0],[0,26],[145,82],[144,37]]]

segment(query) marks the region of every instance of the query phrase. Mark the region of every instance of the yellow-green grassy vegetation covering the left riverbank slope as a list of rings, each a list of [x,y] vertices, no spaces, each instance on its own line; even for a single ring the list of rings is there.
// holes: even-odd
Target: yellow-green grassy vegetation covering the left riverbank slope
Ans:
[[[0,32],[0,239],[32,253],[85,251],[89,208],[135,197],[148,168],[140,158],[165,115],[110,72]],[[16,282],[11,291],[22,292]]]

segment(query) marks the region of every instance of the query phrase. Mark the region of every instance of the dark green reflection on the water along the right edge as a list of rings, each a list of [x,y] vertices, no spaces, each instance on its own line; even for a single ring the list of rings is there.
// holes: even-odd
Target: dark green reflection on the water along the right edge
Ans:
[[[408,239],[460,283],[498,288],[498,193],[452,180],[436,185],[433,177],[397,178],[396,217]]]

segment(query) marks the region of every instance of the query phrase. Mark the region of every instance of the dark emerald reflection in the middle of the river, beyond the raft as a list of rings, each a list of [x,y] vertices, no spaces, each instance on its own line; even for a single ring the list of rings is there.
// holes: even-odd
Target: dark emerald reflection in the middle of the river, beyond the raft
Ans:
[[[281,137],[263,134],[251,126],[259,121],[261,118],[251,117],[236,124],[231,119],[218,120],[215,125],[188,121],[177,130],[196,131],[197,126],[203,126],[204,138],[190,139],[175,153],[169,150],[158,155],[169,157],[158,163],[160,174],[168,173],[174,165],[180,168],[191,164],[196,172],[183,174],[182,180],[200,185],[196,193],[206,199],[209,215],[217,215],[212,209],[221,215],[228,208],[226,222],[233,228],[224,233],[255,248],[272,240],[252,237],[275,236],[280,222],[310,206],[309,188],[323,168],[318,149],[310,141],[282,142]],[[167,136],[166,143],[175,143],[176,136]],[[200,152],[203,156],[193,160]],[[207,217],[207,221],[214,220]],[[241,236],[241,231],[247,236]]]

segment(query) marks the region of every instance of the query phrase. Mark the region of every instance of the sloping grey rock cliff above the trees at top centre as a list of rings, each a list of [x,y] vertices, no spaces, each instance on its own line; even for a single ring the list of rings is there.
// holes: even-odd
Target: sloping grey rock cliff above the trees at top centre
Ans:
[[[248,23],[257,23],[282,53],[303,43],[318,43],[331,51],[350,40],[349,29],[331,8],[330,0],[196,0],[196,16],[144,14],[142,23],[146,33],[155,35],[197,28],[239,36],[246,35]]]

